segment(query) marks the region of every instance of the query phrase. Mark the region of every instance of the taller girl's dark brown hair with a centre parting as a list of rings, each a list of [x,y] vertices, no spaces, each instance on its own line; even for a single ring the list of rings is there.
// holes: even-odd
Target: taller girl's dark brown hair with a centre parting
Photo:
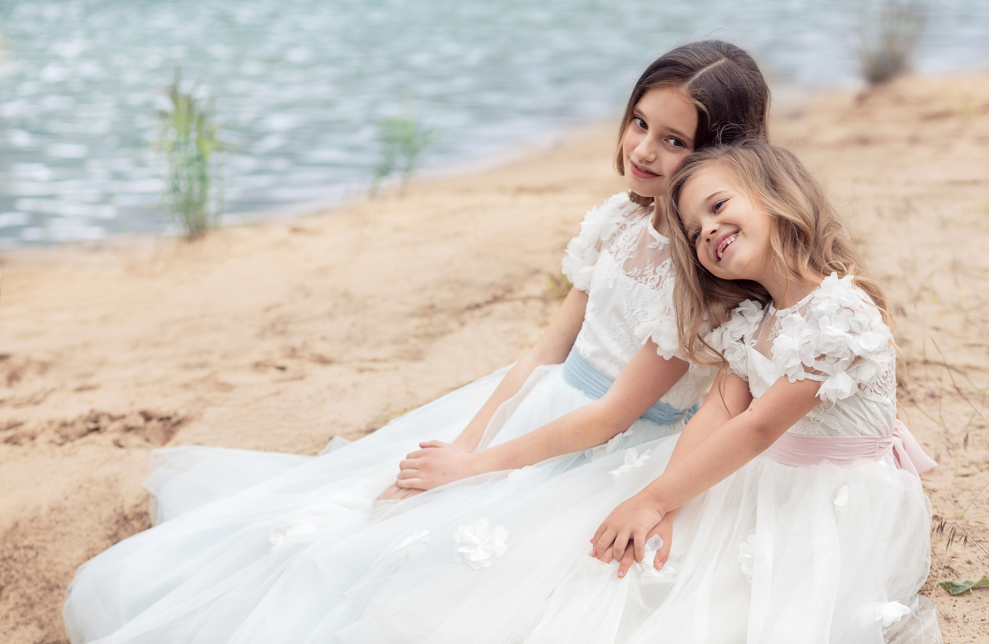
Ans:
[[[739,138],[769,138],[769,87],[759,64],[740,46],[724,41],[699,41],[674,47],[642,72],[625,106],[618,128],[615,169],[625,176],[622,139],[635,116],[635,106],[651,89],[673,87],[697,108],[694,149]],[[637,204],[652,197],[629,192]]]

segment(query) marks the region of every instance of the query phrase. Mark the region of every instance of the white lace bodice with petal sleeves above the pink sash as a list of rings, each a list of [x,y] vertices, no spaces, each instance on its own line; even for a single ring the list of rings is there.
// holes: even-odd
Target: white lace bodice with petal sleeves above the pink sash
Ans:
[[[780,378],[821,383],[821,404],[788,431],[804,435],[889,435],[896,418],[892,333],[852,276],[836,273],[789,309],[746,300],[712,331],[755,398]]]

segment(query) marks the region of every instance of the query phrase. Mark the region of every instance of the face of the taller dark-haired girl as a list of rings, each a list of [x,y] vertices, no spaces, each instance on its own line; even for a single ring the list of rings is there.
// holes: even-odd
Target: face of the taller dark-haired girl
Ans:
[[[678,89],[656,87],[639,99],[622,138],[625,184],[643,197],[662,197],[670,177],[693,151],[697,108]]]

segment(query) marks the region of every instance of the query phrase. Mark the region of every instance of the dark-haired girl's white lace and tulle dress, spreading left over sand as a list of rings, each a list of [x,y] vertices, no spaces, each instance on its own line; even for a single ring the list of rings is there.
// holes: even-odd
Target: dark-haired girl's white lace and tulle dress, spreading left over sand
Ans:
[[[588,294],[575,351],[611,378],[647,336],[664,355],[676,351],[668,240],[653,230],[651,213],[616,195],[587,213],[581,235],[568,246],[565,272]],[[375,503],[405,454],[420,440],[453,440],[506,371],[353,443],[334,440],[317,457],[200,446],[156,450],[145,483],[156,504],[156,525],[79,567],[63,609],[69,638],[74,644],[425,641],[427,633],[406,628],[401,619],[388,625],[401,609],[388,605],[388,598],[405,591],[433,606],[455,605],[464,597],[452,597],[450,589],[463,588],[465,580],[470,585],[472,576],[507,570],[511,556],[526,551],[515,541],[551,525],[586,542],[590,523],[619,501],[601,496],[590,511],[575,513],[601,474],[610,481],[607,472],[623,466],[628,448],[673,443],[683,426],[682,420],[661,425],[640,418],[582,453],[459,481],[403,502]],[[589,403],[563,371],[563,365],[537,369],[498,409],[483,446]],[[686,410],[712,377],[710,368],[691,367],[663,402]],[[573,552],[561,551],[566,556],[559,560],[558,580]],[[404,565],[433,557],[424,577],[409,570],[403,585]],[[505,578],[493,605],[507,598],[531,604],[518,593],[531,571],[511,569],[515,577]],[[455,581],[443,588],[440,580],[451,574]],[[377,583],[383,575],[392,583]],[[423,583],[441,588],[420,596]],[[540,588],[541,602],[552,594],[551,578]],[[376,606],[384,611],[381,618]],[[484,621],[494,614],[477,616]],[[358,630],[377,624],[378,640],[344,633],[358,622]],[[449,641],[481,641],[457,632]]]

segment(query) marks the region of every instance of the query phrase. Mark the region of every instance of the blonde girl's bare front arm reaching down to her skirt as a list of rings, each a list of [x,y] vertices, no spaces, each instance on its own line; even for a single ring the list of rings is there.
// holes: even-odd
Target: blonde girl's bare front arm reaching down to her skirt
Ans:
[[[729,374],[724,385],[730,410],[738,409],[736,406],[746,396],[751,400],[748,383],[738,376]],[[636,561],[641,561],[646,534],[668,511],[710,489],[763,453],[794,422],[817,407],[819,388],[820,383],[813,380],[791,383],[780,378],[761,398],[752,401],[745,412],[716,427],[701,430],[707,435],[686,451],[688,439],[681,457],[675,462],[671,460],[659,478],[616,507],[601,523],[594,534],[594,550],[602,553],[613,544],[614,552],[623,552],[628,540],[633,539]],[[718,392],[712,390],[704,407],[719,404],[719,400],[712,400],[716,398]],[[712,424],[717,421],[713,414],[706,418]],[[693,419],[690,424],[694,424]]]

